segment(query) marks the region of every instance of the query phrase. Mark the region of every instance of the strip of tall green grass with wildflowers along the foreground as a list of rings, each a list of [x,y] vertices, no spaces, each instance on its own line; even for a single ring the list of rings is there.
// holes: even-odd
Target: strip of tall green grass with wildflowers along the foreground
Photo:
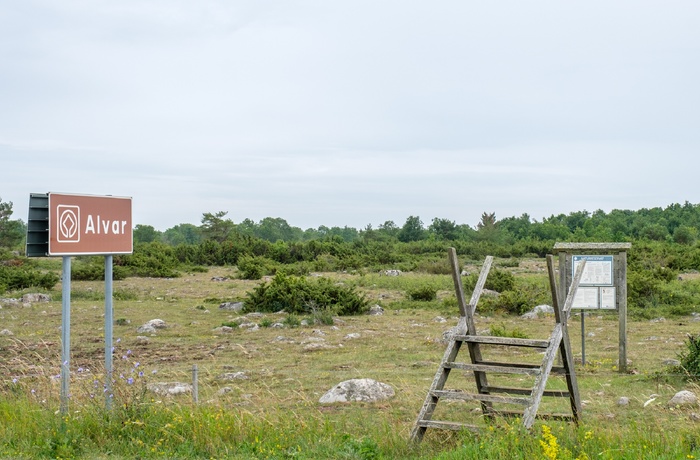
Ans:
[[[115,400],[111,411],[72,400],[61,416],[51,402],[23,390],[5,385],[0,394],[1,458],[700,458],[700,433],[692,426],[606,431],[555,423],[527,432],[518,420],[499,419],[478,435],[429,430],[416,446],[407,439],[410,426],[390,410],[376,418],[363,411],[334,417],[304,402],[285,410],[194,406],[136,392],[136,399]]]

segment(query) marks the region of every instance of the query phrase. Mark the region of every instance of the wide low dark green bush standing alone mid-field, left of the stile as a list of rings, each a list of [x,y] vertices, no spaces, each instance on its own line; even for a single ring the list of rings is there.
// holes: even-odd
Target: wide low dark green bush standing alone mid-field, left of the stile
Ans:
[[[338,315],[356,315],[369,310],[369,302],[354,288],[328,278],[286,276],[278,273],[270,283],[262,283],[247,293],[246,311],[308,314],[314,306],[329,308]]]

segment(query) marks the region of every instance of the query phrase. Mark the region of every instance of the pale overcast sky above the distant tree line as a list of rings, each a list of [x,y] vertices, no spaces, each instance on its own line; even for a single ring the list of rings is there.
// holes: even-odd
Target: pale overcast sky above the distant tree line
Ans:
[[[0,197],[399,226],[700,203],[700,2],[8,0]]]

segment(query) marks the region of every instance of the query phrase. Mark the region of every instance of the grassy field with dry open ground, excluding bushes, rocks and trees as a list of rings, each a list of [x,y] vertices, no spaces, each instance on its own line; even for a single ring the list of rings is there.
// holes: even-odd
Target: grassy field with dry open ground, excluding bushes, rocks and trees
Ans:
[[[509,270],[544,278],[543,267],[544,261],[530,260]],[[580,317],[572,317],[569,328],[584,401],[579,427],[538,422],[523,432],[513,419],[487,424],[476,405],[441,403],[436,419],[472,421],[483,432],[428,430],[415,446],[409,435],[442,358],[442,334],[457,323],[451,278],[317,275],[357,286],[384,314],[290,327],[294,322],[284,313],[221,310],[220,302],[241,300],[258,283],[236,279],[235,268],[116,281],[111,412],[104,410],[103,282],[72,284],[71,400],[63,416],[56,378],[60,285],[51,292],[51,302],[0,309],[0,330],[12,333],[0,335],[0,457],[700,458],[700,408],[667,405],[677,391],[698,394],[700,388],[672,375],[664,364],[684,349],[686,334],[700,330],[692,317],[630,321],[626,374],[617,372],[616,313],[586,317],[585,365],[580,361]],[[407,299],[408,289],[426,283],[438,289],[437,300]],[[167,327],[155,334],[137,332],[156,318]],[[278,322],[286,326],[271,327]],[[554,319],[493,315],[476,322],[484,334],[498,330],[547,338]],[[223,332],[218,330],[223,324],[244,326]],[[487,353],[504,359],[505,351],[494,347]],[[524,353],[518,358],[541,360]],[[199,372],[199,404],[191,395],[164,397],[145,390],[147,383],[191,383],[193,365]],[[232,379],[236,373],[241,378]],[[376,404],[318,403],[327,390],[353,378],[387,383],[396,396]],[[551,380],[550,387],[562,387],[563,382]],[[472,375],[456,371],[448,383],[474,387]],[[629,405],[619,405],[621,397],[629,398]],[[561,401],[548,404],[541,411],[568,411]]]

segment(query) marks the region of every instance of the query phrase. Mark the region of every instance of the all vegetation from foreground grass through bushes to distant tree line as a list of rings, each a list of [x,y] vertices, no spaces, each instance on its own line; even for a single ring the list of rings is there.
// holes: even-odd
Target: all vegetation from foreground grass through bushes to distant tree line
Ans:
[[[690,316],[700,305],[697,205],[579,212],[540,222],[484,213],[474,229],[447,219],[433,219],[425,228],[411,216],[403,226],[300,231],[277,218],[235,224],[221,212],[205,214],[201,227],[183,224],[160,233],[140,226],[134,254],[115,257],[121,337],[111,411],[105,409],[100,367],[103,260],[80,258],[73,265],[71,399],[63,416],[56,378],[60,264],[18,254],[21,222],[9,221],[7,209],[2,241],[11,244],[0,250],[0,293],[19,298],[39,289],[53,300],[0,309],[0,329],[9,332],[0,335],[0,458],[700,458],[697,421],[691,418],[697,408],[665,404],[675,391],[700,390],[698,323]],[[632,372],[617,370],[616,316],[586,316],[595,340],[586,339],[587,363],[577,367],[586,400],[581,426],[541,421],[524,432],[517,420],[487,424],[474,415],[478,404],[470,406],[476,411],[455,405],[445,410],[475,416],[484,427],[479,435],[436,430],[419,446],[408,442],[444,352],[440,337],[458,314],[448,246],[457,248],[471,273],[463,277],[467,293],[483,257],[496,256],[486,288],[499,294],[482,296],[480,331],[544,338],[551,318],[516,315],[551,301],[542,257],[554,241],[622,240],[633,242]],[[382,275],[388,269],[402,273]],[[324,273],[307,276],[312,270]],[[245,312],[211,308],[232,299],[244,300]],[[370,303],[385,314],[363,315]],[[436,320],[436,310],[448,324]],[[661,316],[673,320],[657,320]],[[137,326],[158,317],[168,327],[149,342],[137,339]],[[253,323],[261,327],[247,327]],[[277,323],[283,329],[270,327]],[[580,356],[581,332],[569,332]],[[325,348],[307,348],[314,341]],[[494,361],[507,358],[498,347],[483,348]],[[674,356],[679,366],[663,364]],[[155,381],[189,381],[195,363],[199,405],[187,396],[147,390]],[[230,369],[245,369],[248,378],[221,380]],[[400,391],[381,404],[318,404],[322,392],[357,377],[377,378]],[[490,383],[517,384],[504,380]],[[563,389],[561,382],[552,385]],[[628,407],[617,404],[621,396],[629,397]],[[565,403],[554,404],[555,412],[566,409]]]

